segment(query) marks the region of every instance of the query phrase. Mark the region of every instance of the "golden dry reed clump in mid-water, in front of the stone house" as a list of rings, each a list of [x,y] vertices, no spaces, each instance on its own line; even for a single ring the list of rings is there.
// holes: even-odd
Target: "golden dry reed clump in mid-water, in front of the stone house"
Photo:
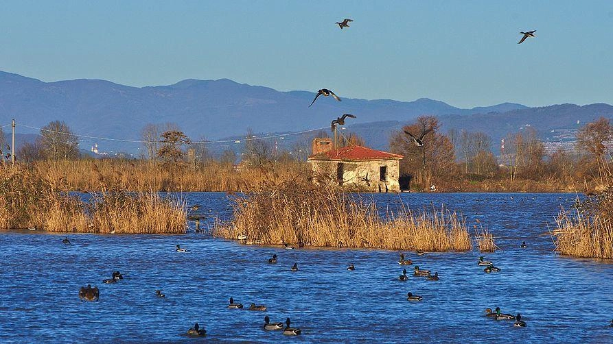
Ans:
[[[234,219],[218,221],[213,236],[262,245],[382,248],[419,251],[471,249],[465,220],[447,210],[403,208],[383,219],[373,202],[311,184],[279,185],[238,198]]]

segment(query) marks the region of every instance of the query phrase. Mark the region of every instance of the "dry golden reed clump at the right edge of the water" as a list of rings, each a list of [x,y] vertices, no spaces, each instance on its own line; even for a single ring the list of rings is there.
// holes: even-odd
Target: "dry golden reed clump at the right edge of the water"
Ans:
[[[567,256],[613,259],[613,224],[598,214],[562,211],[552,236],[555,249]]]

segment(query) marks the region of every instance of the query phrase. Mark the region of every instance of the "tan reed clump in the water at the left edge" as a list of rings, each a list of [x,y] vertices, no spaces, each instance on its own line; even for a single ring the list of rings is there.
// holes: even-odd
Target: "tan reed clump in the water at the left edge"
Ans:
[[[84,203],[69,195],[65,181],[18,166],[0,169],[0,228],[174,234],[185,232],[187,220],[185,201],[104,190]]]

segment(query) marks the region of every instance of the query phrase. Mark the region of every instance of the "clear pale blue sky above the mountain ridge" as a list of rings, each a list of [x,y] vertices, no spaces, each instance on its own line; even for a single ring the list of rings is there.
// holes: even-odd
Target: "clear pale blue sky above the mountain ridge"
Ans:
[[[1,1],[0,70],[463,108],[613,103],[613,1]],[[342,31],[334,23],[354,19]],[[520,31],[536,38],[518,45]]]

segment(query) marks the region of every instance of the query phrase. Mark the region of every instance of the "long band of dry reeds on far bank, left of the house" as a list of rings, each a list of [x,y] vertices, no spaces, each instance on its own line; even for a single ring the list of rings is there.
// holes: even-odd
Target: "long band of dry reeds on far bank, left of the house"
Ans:
[[[307,180],[306,162],[266,162],[259,167],[233,167],[219,162],[165,166],[145,160],[37,161],[34,169],[52,183],[73,191],[231,191],[273,188],[285,180]]]

